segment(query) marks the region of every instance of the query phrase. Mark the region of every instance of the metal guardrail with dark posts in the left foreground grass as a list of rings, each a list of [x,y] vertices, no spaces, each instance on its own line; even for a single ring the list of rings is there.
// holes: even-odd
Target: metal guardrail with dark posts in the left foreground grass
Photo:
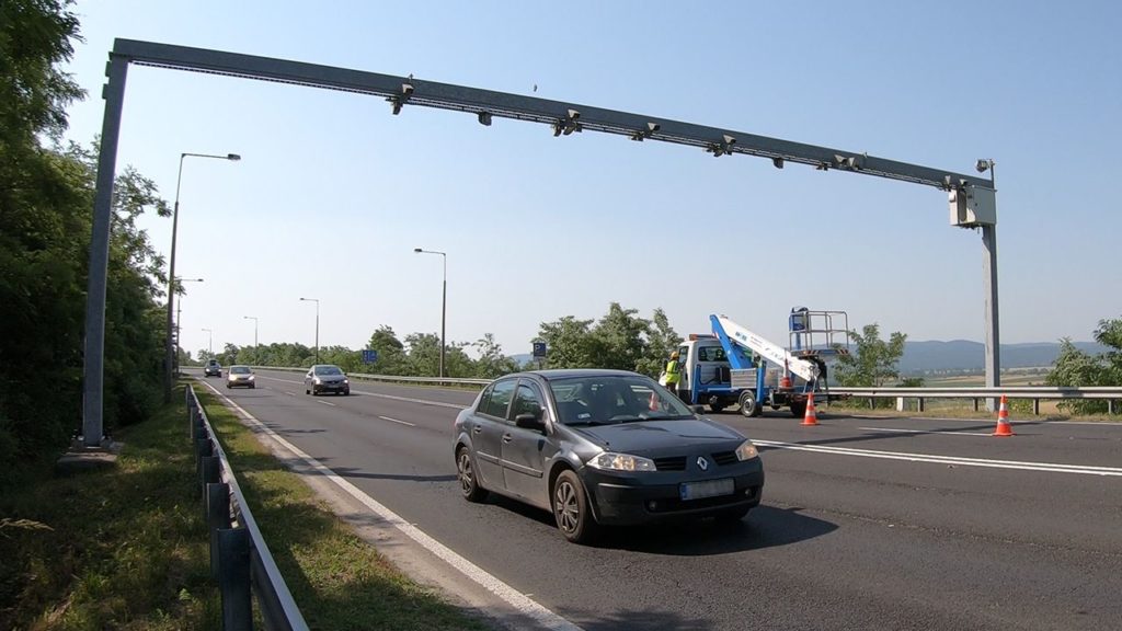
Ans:
[[[238,486],[230,460],[218,440],[193,386],[186,388],[187,422],[195,449],[206,529],[210,532],[211,576],[222,594],[222,629],[254,628],[252,595],[257,596],[265,629],[306,631],[307,623],[288,592],[265,538]]]

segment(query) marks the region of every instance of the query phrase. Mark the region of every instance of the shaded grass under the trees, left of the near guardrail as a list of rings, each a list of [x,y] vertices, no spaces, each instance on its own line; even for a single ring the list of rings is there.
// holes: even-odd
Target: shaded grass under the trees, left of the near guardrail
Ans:
[[[0,499],[0,629],[220,627],[183,403],[116,438],[117,466]]]

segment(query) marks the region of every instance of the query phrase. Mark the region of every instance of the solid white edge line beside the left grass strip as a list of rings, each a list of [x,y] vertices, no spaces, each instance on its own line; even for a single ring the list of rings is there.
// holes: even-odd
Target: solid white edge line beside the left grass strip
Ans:
[[[274,432],[272,429],[265,427],[265,423],[258,421],[256,417],[254,417],[245,409],[242,409],[241,405],[238,405],[237,403],[231,401],[228,396],[224,396],[221,392],[215,390],[214,386],[210,384],[206,384],[206,386],[210,387],[215,395],[226,401],[228,405],[230,405],[239,413],[241,413],[242,418],[257,426],[257,429],[259,431],[267,433],[269,438],[284,446],[285,449],[294,454],[297,458],[304,460],[304,463],[307,466],[319,472],[320,475],[339,485],[339,487],[342,488],[344,492],[347,492],[348,495],[361,502],[364,505],[366,505],[366,507],[370,509],[375,514],[377,514],[381,519],[393,524],[395,528],[397,528],[397,530],[401,530],[406,537],[416,541],[421,547],[429,550],[430,552],[439,557],[448,565],[460,570],[460,573],[462,573],[465,576],[467,576],[471,580],[475,580],[484,588],[486,588],[490,593],[495,594],[496,596],[505,601],[507,604],[516,609],[523,615],[536,621],[545,629],[551,629],[555,631],[582,631],[580,627],[577,627],[576,624],[569,622],[568,620],[545,609],[536,601],[533,601],[532,598],[518,592],[514,587],[511,587],[506,583],[503,583],[498,578],[491,576],[484,568],[477,566],[476,564],[456,554],[454,551],[452,551],[452,549],[444,546],[440,541],[436,541],[420,528],[405,521],[404,519],[398,516],[397,513],[390,511],[388,507],[377,502],[374,497],[370,497],[369,495],[360,491],[349,481],[347,481],[335,472],[331,470],[315,458],[301,451],[295,445],[277,436],[277,433]]]

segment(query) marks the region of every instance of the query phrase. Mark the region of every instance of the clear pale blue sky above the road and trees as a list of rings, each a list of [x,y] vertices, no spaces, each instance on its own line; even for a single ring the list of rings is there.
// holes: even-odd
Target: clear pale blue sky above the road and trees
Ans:
[[[79,2],[70,72],[100,130],[114,37],[532,94],[971,172],[996,161],[1003,342],[1089,339],[1122,317],[1122,6],[1114,2]],[[169,201],[187,158],[183,342],[379,324],[496,335],[611,301],[681,332],[725,313],[776,341],[793,305],[913,340],[981,340],[981,235],[932,188],[406,108],[357,94],[134,66],[118,168]],[[171,245],[171,220],[144,222]]]

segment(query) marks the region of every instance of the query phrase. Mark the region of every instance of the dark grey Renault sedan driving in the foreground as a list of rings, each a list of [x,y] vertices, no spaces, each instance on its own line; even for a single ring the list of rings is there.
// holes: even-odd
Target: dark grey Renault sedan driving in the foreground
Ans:
[[[626,371],[500,377],[457,417],[453,452],[467,500],[494,492],[551,511],[574,542],[600,524],[739,520],[764,485],[752,441]]]

